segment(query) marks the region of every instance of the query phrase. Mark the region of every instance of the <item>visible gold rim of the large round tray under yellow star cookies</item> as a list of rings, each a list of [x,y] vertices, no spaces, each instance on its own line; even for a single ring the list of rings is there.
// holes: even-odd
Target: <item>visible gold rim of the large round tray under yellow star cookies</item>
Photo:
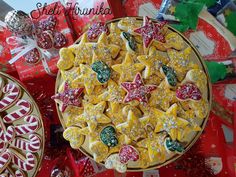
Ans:
[[[109,25],[111,23],[115,23],[115,22],[118,22],[119,20],[121,20],[122,18],[117,18],[117,19],[113,19],[113,20],[110,20],[108,21],[106,24]],[[142,17],[136,17],[137,20],[143,20]],[[156,21],[155,19],[152,19],[154,22]],[[167,25],[168,27],[168,30],[169,32],[175,32],[175,33],[178,33],[184,40],[185,42],[185,45],[186,46],[190,46],[192,48],[192,53],[191,53],[191,56],[190,58],[192,59],[192,61],[196,64],[198,64],[200,66],[200,68],[205,72],[206,76],[207,76],[207,90],[206,90],[206,93],[207,93],[207,99],[208,99],[208,102],[209,102],[209,111],[207,113],[207,116],[202,119],[201,122],[197,122],[198,125],[202,128],[201,131],[199,132],[193,132],[191,133],[191,135],[189,136],[191,141],[189,141],[189,143],[187,143],[185,145],[185,152],[188,151],[192,146],[193,144],[198,140],[198,138],[200,137],[200,135],[202,134],[202,131],[204,130],[205,126],[206,126],[206,123],[207,123],[207,120],[208,120],[208,117],[209,117],[209,113],[210,113],[210,108],[211,108],[211,102],[212,102],[212,88],[211,88],[211,83],[210,83],[210,80],[209,80],[209,74],[208,74],[208,71],[207,71],[207,68],[206,68],[206,65],[204,64],[203,62],[203,59],[200,55],[200,53],[198,52],[198,50],[194,47],[194,45],[180,32],[178,32],[176,29],[172,28],[171,26]],[[80,42],[80,38],[76,41],[76,43],[79,43]],[[60,85],[62,84],[62,79],[61,79],[61,73],[60,71],[58,72],[57,74],[57,80],[56,80],[56,86],[55,86],[55,92],[57,93],[58,92],[58,89],[60,87]],[[59,104],[56,104],[56,107],[57,107],[57,112],[58,112],[58,115],[59,115],[59,119],[60,119],[60,122],[63,126],[63,128],[65,129],[66,126],[65,126],[65,123],[63,121],[63,117],[62,117],[62,114],[61,114],[61,111],[59,110]],[[88,140],[86,138],[84,144],[80,147],[80,150],[88,157],[92,158],[92,155],[91,155],[91,152],[89,152],[89,148],[88,148]],[[136,167],[136,166],[129,166],[128,165],[128,168],[127,168],[127,171],[145,171],[145,170],[151,170],[151,169],[155,169],[155,168],[160,168],[162,166],[165,166],[171,162],[174,162],[176,159],[178,159],[179,157],[181,157],[183,154],[175,154],[173,156],[171,156],[168,160],[166,160],[164,163],[161,163],[161,164],[152,164],[151,166],[149,166],[148,168],[146,169],[142,169],[142,168],[139,168],[139,167]],[[101,163],[104,165],[104,163]],[[132,165],[132,163],[131,163]]]

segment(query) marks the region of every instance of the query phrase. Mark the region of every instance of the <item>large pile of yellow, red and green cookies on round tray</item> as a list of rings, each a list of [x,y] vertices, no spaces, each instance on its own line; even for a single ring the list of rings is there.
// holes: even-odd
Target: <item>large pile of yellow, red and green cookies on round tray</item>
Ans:
[[[207,77],[192,57],[179,34],[148,17],[93,24],[60,50],[52,98],[64,138],[119,172],[184,153],[209,112]]]

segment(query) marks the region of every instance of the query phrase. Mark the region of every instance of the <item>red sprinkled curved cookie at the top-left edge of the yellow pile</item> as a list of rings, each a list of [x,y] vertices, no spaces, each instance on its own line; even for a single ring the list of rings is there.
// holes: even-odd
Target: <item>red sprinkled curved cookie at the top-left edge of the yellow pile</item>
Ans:
[[[106,32],[109,34],[109,29],[106,24],[102,22],[97,22],[92,24],[92,26],[88,30],[88,39],[90,41],[96,40],[102,32]]]

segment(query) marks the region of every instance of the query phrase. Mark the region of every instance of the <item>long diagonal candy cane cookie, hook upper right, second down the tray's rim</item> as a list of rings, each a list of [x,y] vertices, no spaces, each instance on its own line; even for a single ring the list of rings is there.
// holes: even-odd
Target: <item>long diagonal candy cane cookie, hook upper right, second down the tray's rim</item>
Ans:
[[[3,122],[12,123],[23,118],[31,111],[31,103],[29,101],[19,100],[16,105],[20,106],[21,108],[3,117]]]

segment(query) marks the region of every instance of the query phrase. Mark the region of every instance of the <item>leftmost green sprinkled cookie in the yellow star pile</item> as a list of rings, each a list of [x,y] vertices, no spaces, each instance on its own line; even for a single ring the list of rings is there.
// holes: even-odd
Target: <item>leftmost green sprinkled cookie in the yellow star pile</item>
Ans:
[[[104,62],[96,61],[92,64],[91,68],[97,73],[97,79],[100,83],[105,83],[110,79],[111,70]]]

